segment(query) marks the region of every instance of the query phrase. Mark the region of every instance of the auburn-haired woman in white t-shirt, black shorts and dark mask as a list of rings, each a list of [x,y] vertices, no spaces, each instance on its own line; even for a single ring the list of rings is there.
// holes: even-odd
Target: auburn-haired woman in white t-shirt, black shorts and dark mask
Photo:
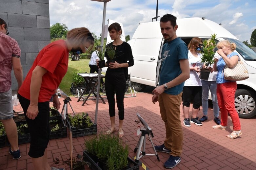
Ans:
[[[183,87],[183,114],[184,125],[190,127],[190,123],[195,123],[198,126],[203,124],[198,120],[197,114],[202,101],[202,83],[199,78],[199,72],[203,65],[201,62],[202,40],[198,37],[191,39],[188,44],[188,62],[190,67],[190,77],[185,81]],[[193,100],[191,120],[188,118],[189,106]]]

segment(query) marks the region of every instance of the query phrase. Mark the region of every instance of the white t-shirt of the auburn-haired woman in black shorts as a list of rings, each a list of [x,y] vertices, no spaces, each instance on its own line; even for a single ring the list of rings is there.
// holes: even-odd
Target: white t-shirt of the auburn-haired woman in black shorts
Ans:
[[[197,53],[198,57],[195,57],[190,50],[188,51],[188,62],[189,67],[199,67],[200,69],[203,66],[203,63],[201,63],[201,55],[200,53]],[[201,79],[199,78],[199,73],[190,70],[190,77],[185,81],[184,86],[202,86]]]

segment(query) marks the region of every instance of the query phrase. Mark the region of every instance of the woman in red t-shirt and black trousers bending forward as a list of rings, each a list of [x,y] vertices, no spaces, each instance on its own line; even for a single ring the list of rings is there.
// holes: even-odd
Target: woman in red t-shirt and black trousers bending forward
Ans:
[[[49,100],[60,108],[57,88],[68,70],[69,51],[85,53],[91,50],[94,39],[87,28],[74,28],[67,40],[57,40],[45,46],[37,55],[18,96],[30,132],[29,156],[35,170],[63,170],[50,167],[47,157],[49,143]]]

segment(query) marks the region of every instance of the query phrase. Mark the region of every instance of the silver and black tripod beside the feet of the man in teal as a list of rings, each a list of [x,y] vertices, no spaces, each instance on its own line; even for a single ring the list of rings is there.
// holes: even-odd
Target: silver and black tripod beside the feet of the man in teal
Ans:
[[[160,160],[159,160],[159,157],[158,157],[158,154],[157,154],[157,152],[156,152],[156,149],[155,149],[155,147],[154,147],[154,144],[153,144],[153,142],[152,142],[152,139],[151,139],[151,137],[150,137],[148,131],[147,131],[145,128],[140,129],[140,131],[141,131],[141,136],[140,136],[140,139],[139,139],[139,141],[138,141],[137,146],[136,146],[135,149],[134,149],[134,153],[136,153],[137,150],[138,150],[137,155],[136,155],[135,162],[138,163],[138,162],[139,162],[139,159],[140,159],[141,157],[145,156],[145,155],[155,155],[156,158],[157,158],[157,160],[160,161]],[[154,149],[154,151],[155,151],[155,154],[146,154],[146,152],[145,152],[145,147],[146,147],[146,135],[148,135],[148,137],[149,137],[149,140],[150,140],[151,145],[152,145],[152,147],[153,147],[153,149]],[[141,152],[142,144],[143,144],[143,150],[142,150],[142,152]],[[140,156],[140,153],[142,153],[141,156]]]

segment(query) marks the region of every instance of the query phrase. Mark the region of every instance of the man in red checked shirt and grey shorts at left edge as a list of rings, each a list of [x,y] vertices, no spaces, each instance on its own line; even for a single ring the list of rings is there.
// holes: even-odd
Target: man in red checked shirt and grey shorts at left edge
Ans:
[[[23,81],[23,71],[20,62],[20,47],[14,39],[8,36],[6,22],[0,18],[0,121],[3,123],[10,142],[9,153],[13,159],[19,159],[17,126],[13,120],[13,104],[11,93],[11,70],[13,69],[19,90]]]

